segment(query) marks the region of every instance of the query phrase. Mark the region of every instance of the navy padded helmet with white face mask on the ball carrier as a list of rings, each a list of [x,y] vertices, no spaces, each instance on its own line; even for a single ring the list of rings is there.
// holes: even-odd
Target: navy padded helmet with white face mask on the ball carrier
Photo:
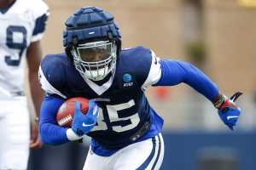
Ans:
[[[121,35],[113,14],[102,8],[83,7],[65,25],[63,46],[83,78],[99,81],[115,70]]]

